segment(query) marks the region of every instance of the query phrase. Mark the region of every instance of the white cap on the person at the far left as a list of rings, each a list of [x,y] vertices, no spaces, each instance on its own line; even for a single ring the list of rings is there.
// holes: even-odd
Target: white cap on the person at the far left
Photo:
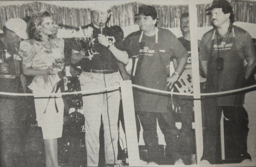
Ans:
[[[28,39],[27,23],[22,19],[9,19],[5,23],[5,27],[12,30],[22,39]]]

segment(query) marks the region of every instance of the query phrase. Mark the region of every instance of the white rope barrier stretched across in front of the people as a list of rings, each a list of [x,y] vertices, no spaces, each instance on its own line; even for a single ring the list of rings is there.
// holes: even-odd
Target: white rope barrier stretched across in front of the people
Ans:
[[[161,94],[169,94],[169,95],[187,95],[187,96],[193,96],[193,93],[176,93],[176,92],[169,92],[169,91],[164,91],[164,90],[158,90],[158,89],[153,89],[153,88],[148,88],[148,87],[142,87],[139,85],[134,85],[132,84],[133,87],[137,87],[142,90],[146,90],[149,92],[156,92],[156,93],[161,93]],[[0,95],[9,95],[9,96],[39,96],[39,97],[49,97],[49,96],[60,96],[60,95],[75,95],[75,94],[94,94],[94,93],[101,93],[101,92],[110,92],[110,91],[116,91],[119,89],[120,86],[114,86],[114,87],[106,87],[106,88],[101,88],[101,89],[92,89],[92,90],[84,90],[84,91],[77,91],[77,92],[64,92],[64,93],[9,93],[9,92],[0,92]],[[256,87],[256,85],[252,85],[249,87],[243,87],[239,89],[234,89],[234,90],[228,90],[228,91],[223,91],[223,92],[215,92],[215,93],[201,93],[201,96],[213,96],[213,95],[224,95],[224,94],[230,94],[230,93],[235,93],[235,92],[240,92],[244,91],[247,89],[251,89],[253,87]]]

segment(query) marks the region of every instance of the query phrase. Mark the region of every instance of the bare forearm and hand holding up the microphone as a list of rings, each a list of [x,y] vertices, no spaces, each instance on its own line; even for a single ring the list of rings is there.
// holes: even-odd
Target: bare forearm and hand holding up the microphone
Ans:
[[[101,43],[105,47],[108,47],[109,42],[105,35],[99,34],[98,40],[99,43]],[[128,63],[129,57],[126,51],[119,50],[114,45],[110,46],[108,49],[113,53],[118,61],[124,63],[125,65]]]

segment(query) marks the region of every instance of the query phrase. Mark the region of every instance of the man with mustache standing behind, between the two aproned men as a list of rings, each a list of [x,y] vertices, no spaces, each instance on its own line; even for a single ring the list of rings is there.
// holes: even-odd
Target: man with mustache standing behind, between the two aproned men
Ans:
[[[180,16],[180,28],[183,36],[178,38],[180,43],[188,51],[189,57],[185,70],[192,74],[191,65],[191,48],[190,48],[190,29],[189,29],[189,13],[182,13]],[[177,68],[177,58],[173,57],[174,69]],[[183,73],[181,74],[183,76]],[[186,74],[185,74],[186,76]],[[192,75],[191,75],[192,76]],[[187,76],[186,76],[187,77]],[[175,92],[179,92],[174,89]],[[173,104],[175,106],[175,122],[181,122],[180,138],[183,141],[179,149],[180,159],[175,164],[190,164],[190,155],[195,153],[195,136],[192,129],[194,122],[193,99],[191,96],[172,95]],[[183,162],[184,161],[184,162]]]

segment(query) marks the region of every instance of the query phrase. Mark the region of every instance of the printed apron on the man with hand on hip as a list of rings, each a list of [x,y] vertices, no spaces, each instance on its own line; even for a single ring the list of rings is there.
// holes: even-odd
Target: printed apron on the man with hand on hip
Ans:
[[[159,52],[157,33],[151,37],[142,34],[139,41],[138,63],[132,82],[143,87],[167,90],[166,65]],[[167,96],[137,88],[134,89],[133,95],[136,111],[167,112]]]

